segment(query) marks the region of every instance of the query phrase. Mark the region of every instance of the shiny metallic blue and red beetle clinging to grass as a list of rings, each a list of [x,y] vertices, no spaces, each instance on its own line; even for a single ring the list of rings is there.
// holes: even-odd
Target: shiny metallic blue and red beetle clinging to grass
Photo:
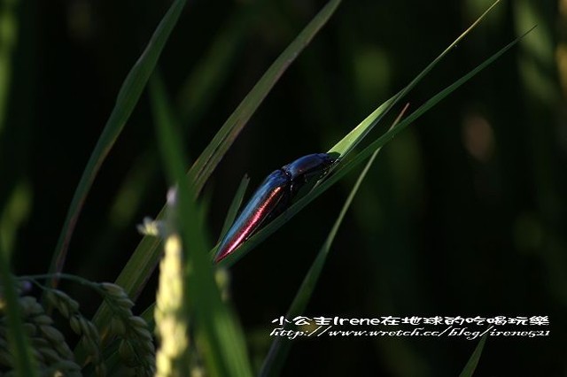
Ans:
[[[260,227],[285,211],[300,188],[319,181],[337,160],[328,153],[314,153],[270,173],[222,238],[214,261],[226,258]]]

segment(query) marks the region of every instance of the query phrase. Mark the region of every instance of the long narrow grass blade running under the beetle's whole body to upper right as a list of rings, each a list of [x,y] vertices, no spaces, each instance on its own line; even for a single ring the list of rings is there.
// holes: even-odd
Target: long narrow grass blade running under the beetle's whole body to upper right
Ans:
[[[241,247],[237,250],[232,252],[227,258],[222,259],[220,265],[224,267],[229,267],[233,265],[237,260],[244,257],[245,254],[252,250],[256,245],[260,242],[264,241],[268,235],[276,232],[279,227],[282,227],[285,222],[295,216],[303,207],[313,201],[317,196],[320,196],[322,192],[330,188],[333,184],[335,184],[338,180],[340,180],[346,173],[353,169],[354,166],[360,164],[366,158],[369,158],[375,150],[383,147],[387,142],[392,141],[395,135],[398,135],[402,130],[408,127],[413,121],[418,119],[423,115],[423,113],[429,111],[431,107],[454,92],[457,88],[460,88],[465,82],[470,81],[472,77],[478,74],[480,71],[485,69],[486,66],[491,65],[494,60],[500,58],[503,53],[511,49],[514,45],[517,44],[525,35],[530,33],[533,30],[528,30],[524,35],[519,36],[513,42],[510,42],[508,45],[503,47],[501,50],[493,54],[490,58],[487,58],[483,63],[478,65],[476,68],[471,70],[469,73],[463,75],[459,80],[454,81],[453,84],[449,85],[447,88],[441,90],[435,96],[432,96],[425,104],[420,106],[415,112],[412,112],[408,115],[406,119],[400,121],[400,123],[396,126],[387,131],[384,135],[381,135],[377,138],[376,141],[371,142],[369,146],[367,146],[364,150],[358,152],[352,159],[345,161],[337,166],[336,169],[333,170],[333,173],[326,176],[325,180],[321,182],[320,185],[315,187],[312,191],[310,191],[306,196],[300,198],[296,203],[292,204],[291,207],[286,211],[283,212],[282,215],[278,216],[276,219],[272,220],[266,227],[263,227],[257,234],[253,235],[249,240],[247,240]],[[367,119],[365,119],[366,121]],[[211,251],[214,253],[214,250]]]

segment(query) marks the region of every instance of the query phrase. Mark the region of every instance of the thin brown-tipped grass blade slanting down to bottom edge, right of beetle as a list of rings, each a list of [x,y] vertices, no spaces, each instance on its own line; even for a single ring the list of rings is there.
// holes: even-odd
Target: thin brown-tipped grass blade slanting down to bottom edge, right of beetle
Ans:
[[[406,107],[404,107],[404,109],[400,112],[398,118],[393,122],[392,127],[395,127],[395,125],[400,121],[401,117],[407,109],[408,105],[406,105]],[[392,127],[390,128],[392,129]],[[330,229],[327,239],[322,244],[321,250],[319,250],[319,252],[317,253],[315,261],[309,268],[305,279],[301,283],[298,293],[295,295],[290,309],[286,314],[286,318],[295,318],[305,311],[307,304],[309,303],[309,300],[313,295],[315,285],[319,280],[319,276],[321,276],[322,267],[327,261],[327,256],[330,252],[330,246],[334,241],[335,236],[337,235],[338,228],[342,224],[346,212],[350,208],[350,205],[353,203],[354,196],[356,196],[358,189],[361,187],[362,181],[364,181],[366,174],[369,172],[370,166],[374,163],[374,160],[377,158],[379,152],[380,149],[374,151],[372,156],[369,158],[368,163],[364,166],[364,169],[362,169],[362,172],[354,183],[353,189],[351,189],[350,194],[346,198],[345,204],[343,204],[343,208],[338,214],[337,220],[335,220],[335,224]],[[284,330],[288,330],[291,328],[291,324],[286,322],[283,328]],[[284,338],[282,336],[276,337],[268,350],[268,356],[264,359],[264,363],[260,370],[260,376],[276,376],[281,373],[283,362],[285,361],[285,358],[287,358],[287,355],[291,349],[291,344],[292,342],[290,339]]]

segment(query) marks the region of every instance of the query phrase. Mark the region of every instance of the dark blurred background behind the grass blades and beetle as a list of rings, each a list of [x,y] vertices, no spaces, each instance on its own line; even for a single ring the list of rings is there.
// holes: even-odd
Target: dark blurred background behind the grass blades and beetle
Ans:
[[[120,84],[170,1],[0,4],[0,214],[18,229],[10,237],[6,226],[3,242],[12,245],[17,273],[45,273]],[[190,158],[323,4],[188,2],[159,69]],[[341,4],[208,182],[211,245],[245,173],[253,188],[276,167],[329,150],[489,5]],[[535,24],[524,42],[384,148],[338,233],[308,316],[549,316],[548,337],[489,338],[477,375],[567,375],[567,4],[499,4],[404,101],[415,110]],[[231,268],[254,365],[356,176]],[[66,272],[113,281],[141,238],[136,224],[155,216],[166,190],[144,95],[89,193]],[[454,376],[477,342],[299,340],[283,372]]]

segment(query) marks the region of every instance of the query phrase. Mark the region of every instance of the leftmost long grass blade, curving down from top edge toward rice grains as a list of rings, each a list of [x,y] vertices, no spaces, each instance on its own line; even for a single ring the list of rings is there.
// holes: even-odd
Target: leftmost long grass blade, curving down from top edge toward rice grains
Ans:
[[[97,145],[90,155],[89,162],[82,173],[81,180],[77,186],[69,210],[66,215],[65,223],[58,238],[57,247],[53,253],[50,264],[50,273],[60,273],[65,264],[66,253],[76,225],[79,214],[82,210],[85,198],[89,193],[89,188],[95,180],[95,176],[105,160],[108,152],[113,147],[114,142],[126,125],[130,114],[133,112],[138,99],[142,94],[151,72],[153,71],[159,55],[163,50],[171,31],[177,23],[177,19],[183,10],[186,0],[175,0],[166,15],[159,22],[150,42],[144,52],[132,67],[126,80],[123,82],[120,92],[116,97],[116,104],[105,129],[103,130]],[[51,284],[55,284],[52,281]]]

